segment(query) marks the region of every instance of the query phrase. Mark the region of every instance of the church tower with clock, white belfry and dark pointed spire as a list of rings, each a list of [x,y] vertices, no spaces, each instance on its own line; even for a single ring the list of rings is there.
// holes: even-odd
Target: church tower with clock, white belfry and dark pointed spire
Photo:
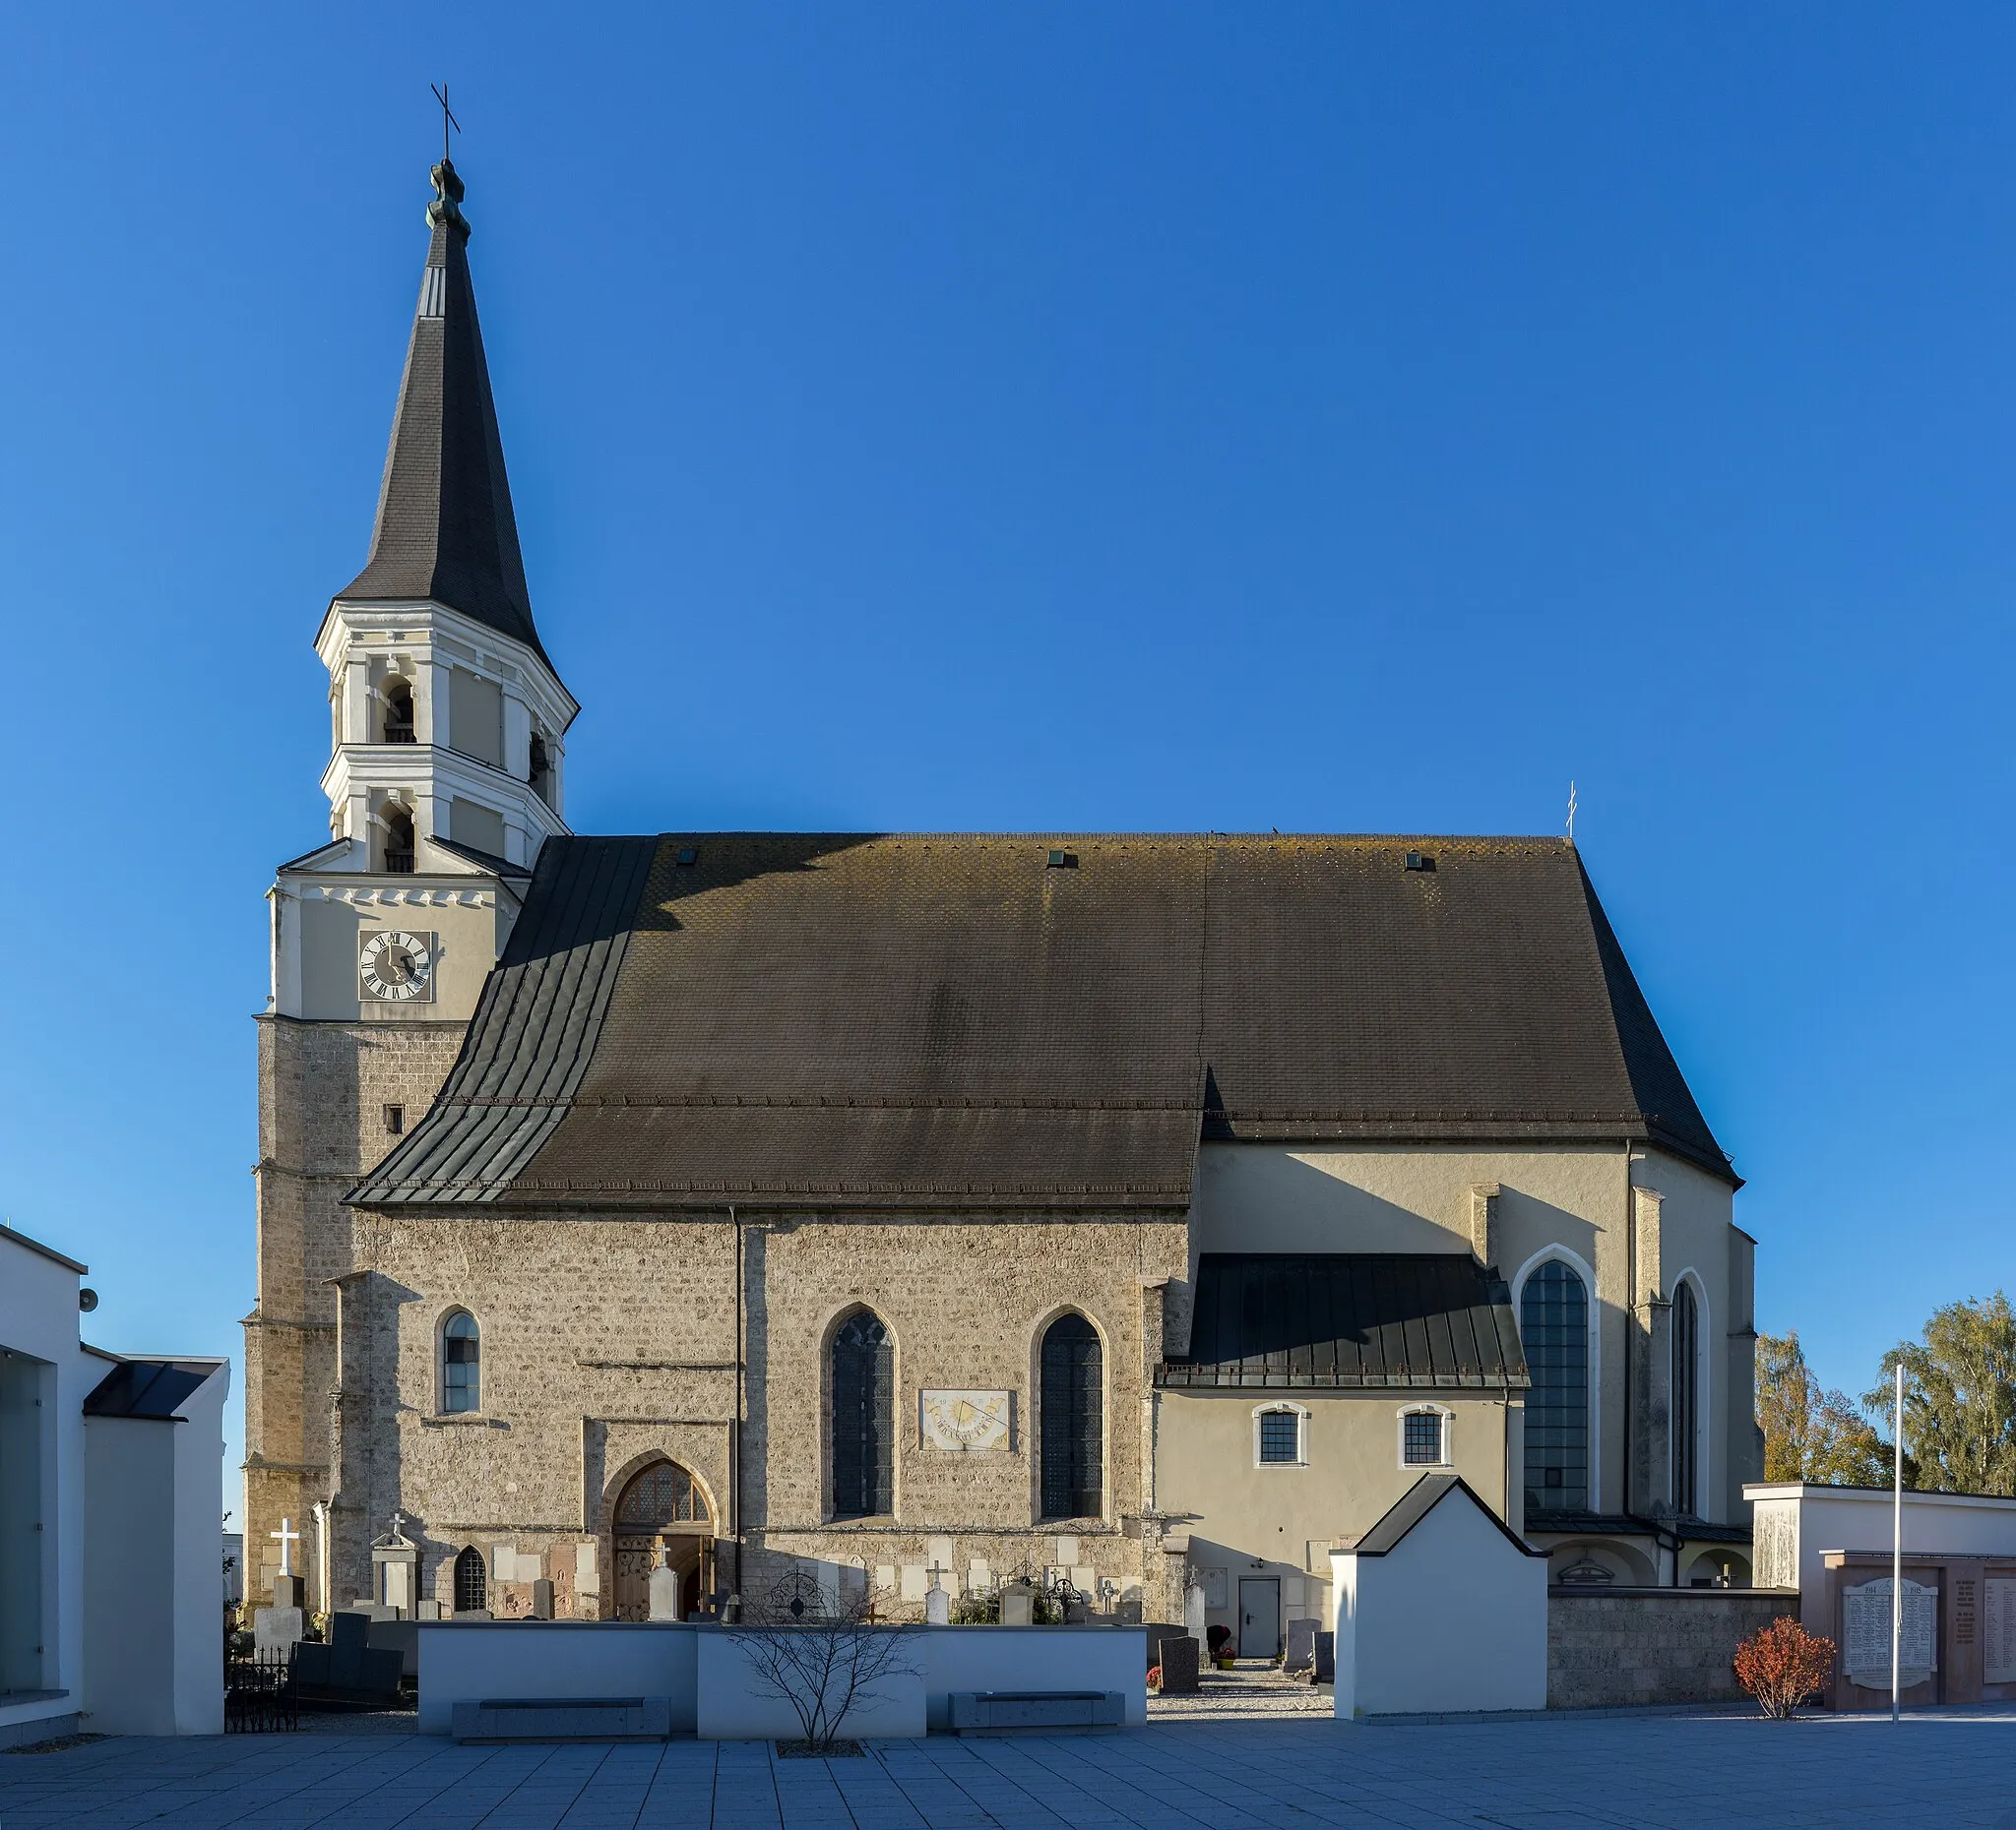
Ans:
[[[248,1596],[280,1518],[327,1570],[339,1195],[454,1066],[546,838],[579,705],[532,623],[470,284],[464,185],[431,171],[427,264],[365,568],[317,635],[329,840],[282,865],[260,1020],[258,1306],[246,1318]]]

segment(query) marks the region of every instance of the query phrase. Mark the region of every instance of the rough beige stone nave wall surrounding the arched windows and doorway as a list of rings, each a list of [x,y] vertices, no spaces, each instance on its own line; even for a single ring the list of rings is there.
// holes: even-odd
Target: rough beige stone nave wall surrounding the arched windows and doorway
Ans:
[[[738,1586],[750,1594],[798,1560],[867,1568],[899,1618],[921,1618],[931,1564],[952,1592],[976,1574],[1062,1566],[1123,1610],[1141,1606],[1145,1576],[1163,1578],[1141,1514],[1159,1280],[1183,1270],[1181,1221],[738,1225],[728,1213],[492,1209],[367,1213],[355,1229],[357,1270],[341,1302],[339,1598],[369,1594],[369,1538],[401,1508],[423,1534],[423,1596],[448,1598],[448,1566],[476,1544],[494,1610],[528,1610],[532,1580],[546,1578],[562,1618],[607,1614],[615,1504],[661,1455],[696,1475],[724,1538],[746,1534]],[[895,1342],[895,1514],[835,1522],[825,1368],[835,1328],[859,1306]],[[482,1409],[450,1417],[437,1350],[458,1308],[482,1330]],[[748,1330],[742,1469],[738,1308]],[[1044,1524],[1036,1368],[1042,1332],[1064,1310],[1085,1314],[1105,1348],[1107,1504],[1097,1520]],[[927,1443],[919,1395],[935,1389],[1010,1393],[1006,1441]],[[726,1552],[720,1574],[734,1580]]]

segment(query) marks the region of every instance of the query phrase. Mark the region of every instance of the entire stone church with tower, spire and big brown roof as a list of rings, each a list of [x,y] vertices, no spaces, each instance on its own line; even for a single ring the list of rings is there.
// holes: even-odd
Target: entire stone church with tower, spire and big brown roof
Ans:
[[[1198,1584],[1270,1653],[1456,1471],[1554,1580],[1746,1580],[1742,1183],[1572,842],[573,834],[433,183],[270,891],[246,1542],[421,1614]]]

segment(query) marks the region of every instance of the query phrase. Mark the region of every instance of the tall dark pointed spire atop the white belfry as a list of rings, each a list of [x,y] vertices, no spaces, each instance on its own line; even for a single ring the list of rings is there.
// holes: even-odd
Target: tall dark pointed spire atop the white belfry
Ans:
[[[337,597],[431,599],[516,637],[544,661],[476,322],[462,179],[446,157],[431,177],[433,236],[385,451],[371,558]]]

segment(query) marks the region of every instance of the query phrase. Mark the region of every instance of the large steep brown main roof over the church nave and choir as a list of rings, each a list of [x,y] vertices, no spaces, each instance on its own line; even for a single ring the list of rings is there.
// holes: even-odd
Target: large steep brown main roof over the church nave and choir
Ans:
[[[546,842],[351,1199],[1183,1207],[1200,1137],[1736,1181],[1560,840],[710,832]]]

